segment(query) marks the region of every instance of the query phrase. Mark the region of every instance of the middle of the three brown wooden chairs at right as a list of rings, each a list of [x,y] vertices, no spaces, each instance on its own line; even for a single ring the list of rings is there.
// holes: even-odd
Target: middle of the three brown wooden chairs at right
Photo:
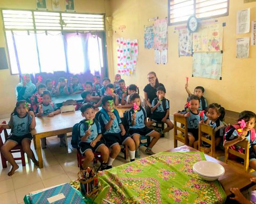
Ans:
[[[210,145],[210,152],[208,152],[207,155],[218,159],[219,157],[224,156],[224,151],[216,150],[215,133],[216,131],[210,125],[200,123],[198,134],[198,149],[199,151],[204,152],[204,146],[202,146],[202,142],[205,142]],[[209,138],[206,138],[206,135],[208,135]]]

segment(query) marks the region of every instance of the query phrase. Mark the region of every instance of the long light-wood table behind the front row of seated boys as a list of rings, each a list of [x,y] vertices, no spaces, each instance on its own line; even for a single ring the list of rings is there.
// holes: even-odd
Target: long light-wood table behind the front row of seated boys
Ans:
[[[120,117],[123,117],[123,113],[129,109],[116,108]],[[39,162],[39,168],[44,167],[42,163],[41,143],[40,138],[51,137],[60,134],[71,133],[75,123],[81,121],[81,111],[61,113],[54,117],[36,117],[36,127],[31,131],[34,136],[34,146],[37,151],[37,157]]]

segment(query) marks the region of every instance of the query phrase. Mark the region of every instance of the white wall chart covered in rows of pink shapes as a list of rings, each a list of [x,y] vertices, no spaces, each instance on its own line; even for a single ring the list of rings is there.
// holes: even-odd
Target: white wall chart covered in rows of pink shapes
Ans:
[[[130,75],[138,60],[138,40],[117,38],[117,72]]]

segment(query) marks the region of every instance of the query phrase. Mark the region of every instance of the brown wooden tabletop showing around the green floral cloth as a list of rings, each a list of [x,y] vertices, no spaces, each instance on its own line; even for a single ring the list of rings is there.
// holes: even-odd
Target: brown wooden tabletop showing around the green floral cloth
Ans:
[[[167,150],[169,152],[176,152],[176,151],[198,151],[197,149],[194,149],[192,147],[189,147],[187,145],[183,145],[174,149]],[[236,167],[230,166],[220,160],[217,160],[213,157],[210,157],[208,155],[205,155],[205,158],[207,161],[212,161],[221,164],[225,168],[225,174],[219,178],[219,181],[227,195],[227,198],[232,195],[230,192],[230,188],[239,188],[240,191],[244,191],[252,186],[254,186],[254,183],[250,182],[250,178],[253,177],[251,174],[246,173],[240,169],[237,169]],[[231,196],[233,197],[233,196]],[[230,200],[230,199],[228,199]],[[226,201],[226,203],[231,203],[230,201]]]

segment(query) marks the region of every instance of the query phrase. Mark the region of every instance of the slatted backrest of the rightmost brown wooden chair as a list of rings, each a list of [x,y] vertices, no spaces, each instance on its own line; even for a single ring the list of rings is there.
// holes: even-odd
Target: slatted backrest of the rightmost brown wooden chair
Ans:
[[[244,148],[244,152],[239,152],[239,151],[233,150],[229,147],[225,147],[224,162],[228,163],[228,161],[230,161],[230,159],[228,159],[229,154],[237,156],[244,160],[244,170],[246,172],[248,172],[248,170],[249,170],[249,141],[244,139],[244,140],[236,143],[236,146],[240,146],[240,147]],[[241,166],[240,161],[236,162],[236,160],[232,160],[232,163],[234,163],[234,162],[238,163],[238,166]]]

